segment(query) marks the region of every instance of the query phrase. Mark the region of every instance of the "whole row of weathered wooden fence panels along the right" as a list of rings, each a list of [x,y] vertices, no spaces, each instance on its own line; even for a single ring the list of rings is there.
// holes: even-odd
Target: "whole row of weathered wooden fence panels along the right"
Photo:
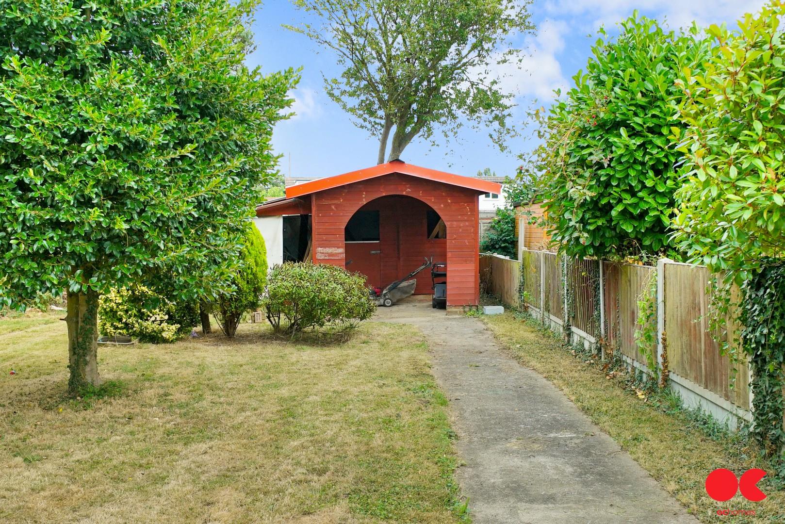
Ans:
[[[653,284],[657,268],[603,262],[603,286],[600,289],[599,262],[575,261],[567,273],[571,288],[571,324],[595,339],[604,339],[608,347],[634,361],[648,365],[648,359],[637,348],[635,332],[639,312],[637,302],[641,294]],[[521,275],[521,272],[524,272]],[[480,257],[481,279],[487,291],[510,306],[520,307],[520,289],[528,302],[552,317],[564,320],[564,276],[560,256],[547,251],[524,250],[522,262],[499,256]],[[709,331],[707,310],[710,297],[707,291],[708,270],[665,262],[663,266],[663,326],[666,334],[666,357],[673,376],[682,386],[710,400],[706,390],[738,406],[750,409],[748,383],[750,372],[745,363],[732,364],[719,353]],[[544,286],[544,287],[543,287]],[[649,288],[650,289],[650,288]],[[600,322],[600,297],[604,303],[604,324]],[[732,303],[739,304],[739,291],[734,290]],[[731,326],[729,329],[736,328]],[[656,347],[651,348],[652,357]],[[736,381],[731,386],[731,378]],[[675,378],[674,378],[675,379]],[[715,404],[718,402],[714,400]],[[723,407],[722,409],[726,409]],[[785,419],[783,419],[785,424]]]

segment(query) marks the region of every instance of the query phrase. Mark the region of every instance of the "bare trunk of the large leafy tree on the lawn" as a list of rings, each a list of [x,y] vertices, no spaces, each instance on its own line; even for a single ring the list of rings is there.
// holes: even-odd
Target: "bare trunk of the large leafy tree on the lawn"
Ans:
[[[68,391],[100,384],[98,376],[98,293],[68,291]]]

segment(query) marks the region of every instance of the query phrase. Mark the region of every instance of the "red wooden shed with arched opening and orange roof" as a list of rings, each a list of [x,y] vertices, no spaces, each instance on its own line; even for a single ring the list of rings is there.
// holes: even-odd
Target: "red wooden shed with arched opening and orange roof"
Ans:
[[[501,185],[401,160],[287,188],[257,207],[258,217],[308,217],[316,264],[363,273],[384,288],[422,264],[447,262],[447,306],[480,302],[478,197]],[[305,220],[303,221],[305,224]],[[427,271],[415,294],[430,294]]]

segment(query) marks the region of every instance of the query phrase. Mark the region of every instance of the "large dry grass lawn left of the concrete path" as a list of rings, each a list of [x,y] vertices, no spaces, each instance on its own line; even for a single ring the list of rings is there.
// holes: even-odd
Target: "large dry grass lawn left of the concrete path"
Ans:
[[[0,522],[458,520],[447,402],[411,328],[102,347],[108,387],[68,399],[64,324],[0,320]]]

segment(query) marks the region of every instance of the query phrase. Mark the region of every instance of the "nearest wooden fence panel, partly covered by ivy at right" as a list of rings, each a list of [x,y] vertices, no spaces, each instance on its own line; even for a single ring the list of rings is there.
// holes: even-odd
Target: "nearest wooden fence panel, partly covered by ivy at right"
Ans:
[[[720,354],[707,318],[710,273],[700,266],[665,264],[665,332],[669,368],[744,409],[750,407],[746,362],[732,365]],[[738,296],[738,291],[734,293]],[[734,301],[739,302],[738,299]],[[732,328],[729,326],[729,328]]]

